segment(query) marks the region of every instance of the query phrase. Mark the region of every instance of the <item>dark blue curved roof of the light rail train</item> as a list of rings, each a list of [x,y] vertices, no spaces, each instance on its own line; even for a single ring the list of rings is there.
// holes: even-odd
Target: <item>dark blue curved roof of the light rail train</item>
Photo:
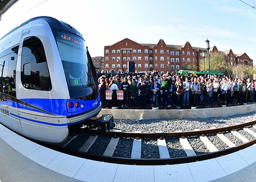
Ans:
[[[35,21],[35,20],[45,20],[49,26],[51,27],[51,29],[61,29],[61,30],[66,30],[69,31],[71,33],[74,33],[75,35],[80,36],[82,39],[84,39],[83,35],[80,34],[80,32],[78,30],[76,30],[73,26],[63,22],[63,21],[59,21],[53,17],[49,17],[49,16],[38,16],[35,18],[32,18],[30,20],[27,20],[26,22],[22,23],[21,25],[17,26],[15,29],[11,30],[10,32],[8,32],[7,34],[5,34],[2,38],[0,38],[0,40],[4,39],[7,35],[9,35],[11,32],[21,28],[24,25],[27,25],[28,23]]]

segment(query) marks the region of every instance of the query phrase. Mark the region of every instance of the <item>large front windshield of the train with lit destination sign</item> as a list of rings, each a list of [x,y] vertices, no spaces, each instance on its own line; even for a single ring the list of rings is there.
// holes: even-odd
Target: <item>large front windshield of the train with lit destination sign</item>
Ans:
[[[94,67],[88,60],[85,41],[78,35],[63,30],[55,29],[53,34],[58,45],[70,97],[80,98],[91,95],[95,91],[87,89],[85,93],[86,89],[83,89],[91,87],[94,90],[96,88],[91,73]],[[95,96],[87,99],[95,99]]]

